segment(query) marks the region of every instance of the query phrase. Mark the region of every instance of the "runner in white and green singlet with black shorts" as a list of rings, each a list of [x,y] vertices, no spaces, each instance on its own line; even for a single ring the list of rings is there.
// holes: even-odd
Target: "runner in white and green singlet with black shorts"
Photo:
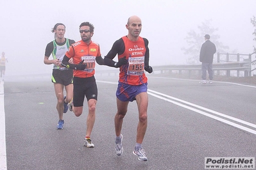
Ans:
[[[51,32],[55,33],[55,40],[49,42],[46,46],[44,64],[53,65],[51,81],[55,88],[55,95],[57,98],[56,109],[59,117],[56,129],[62,129],[64,125],[63,113],[67,112],[67,109],[69,108],[68,103],[73,98],[73,70],[65,68],[61,63],[65,52],[69,50],[69,47],[74,43],[74,40],[64,37],[65,25],[62,23],[55,24]],[[53,59],[49,59],[49,56],[51,55],[53,56]],[[64,96],[64,86],[67,96]]]

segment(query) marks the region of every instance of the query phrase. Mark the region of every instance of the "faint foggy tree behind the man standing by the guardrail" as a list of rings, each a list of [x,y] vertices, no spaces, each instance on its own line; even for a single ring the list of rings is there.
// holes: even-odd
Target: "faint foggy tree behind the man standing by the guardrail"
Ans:
[[[210,41],[216,45],[217,52],[226,52],[229,49],[228,46],[223,45],[223,43],[219,42],[219,35],[216,34],[218,28],[214,28],[210,25],[212,20],[205,20],[205,22],[201,23],[201,26],[198,26],[198,33],[194,30],[189,31],[185,40],[189,47],[182,47],[184,54],[188,56],[187,63],[189,64],[198,64],[199,61],[199,54],[201,45],[204,43],[203,36],[210,35]]]

